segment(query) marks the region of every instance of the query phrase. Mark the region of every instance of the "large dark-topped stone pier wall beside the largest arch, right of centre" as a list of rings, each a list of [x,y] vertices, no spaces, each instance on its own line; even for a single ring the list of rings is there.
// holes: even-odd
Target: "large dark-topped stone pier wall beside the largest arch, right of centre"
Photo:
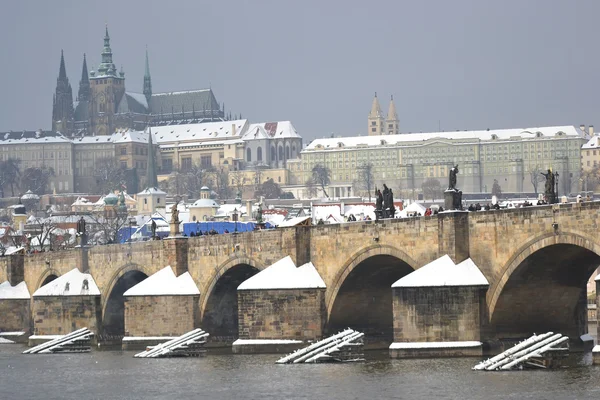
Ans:
[[[394,342],[480,340],[485,289],[393,288]]]

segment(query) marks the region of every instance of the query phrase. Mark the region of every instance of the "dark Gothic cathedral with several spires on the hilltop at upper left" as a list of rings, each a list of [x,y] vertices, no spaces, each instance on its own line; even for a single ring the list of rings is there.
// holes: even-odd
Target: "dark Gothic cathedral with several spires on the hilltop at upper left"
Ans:
[[[79,91],[75,101],[64,56],[52,108],[52,130],[66,136],[111,135],[117,129],[140,130],[148,125],[171,125],[222,121],[224,105],[219,105],[211,89],[152,93],[148,51],[142,93],[125,87],[125,72],[117,72],[110,48],[108,27],[104,36],[102,63],[88,71],[85,55]]]

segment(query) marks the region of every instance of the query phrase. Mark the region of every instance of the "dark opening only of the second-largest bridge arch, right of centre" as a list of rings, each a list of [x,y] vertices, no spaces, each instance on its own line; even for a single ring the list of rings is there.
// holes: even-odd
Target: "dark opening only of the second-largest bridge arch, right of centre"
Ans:
[[[345,328],[364,332],[369,344],[393,341],[392,284],[413,272],[392,255],[374,255],[360,261],[346,276],[330,308],[327,332]]]

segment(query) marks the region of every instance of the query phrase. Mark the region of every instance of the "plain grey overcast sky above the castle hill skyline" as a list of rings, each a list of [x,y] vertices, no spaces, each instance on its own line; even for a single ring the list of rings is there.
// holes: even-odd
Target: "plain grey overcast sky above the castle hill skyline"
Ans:
[[[402,132],[593,124],[600,1],[11,1],[0,130],[49,129],[64,49],[77,95],[104,24],[126,88],[213,88],[253,122],[308,139],[365,135],[373,93]]]

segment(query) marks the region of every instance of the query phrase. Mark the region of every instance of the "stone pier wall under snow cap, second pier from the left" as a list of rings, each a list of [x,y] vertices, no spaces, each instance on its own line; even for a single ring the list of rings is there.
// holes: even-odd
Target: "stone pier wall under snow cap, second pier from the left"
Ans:
[[[65,335],[87,327],[97,334],[101,315],[99,296],[35,297],[33,333]]]

